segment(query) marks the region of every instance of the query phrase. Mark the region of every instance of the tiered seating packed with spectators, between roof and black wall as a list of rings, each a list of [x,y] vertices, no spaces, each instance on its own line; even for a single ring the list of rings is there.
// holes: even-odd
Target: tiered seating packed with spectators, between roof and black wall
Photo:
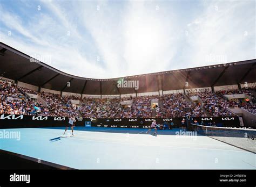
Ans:
[[[254,88],[253,88],[254,89]],[[200,97],[203,108],[194,102],[188,102],[183,93],[171,93],[163,96],[140,96],[125,98],[83,98],[75,95],[60,96],[58,94],[17,87],[15,84],[0,82],[1,114],[25,114],[53,117],[84,117],[84,118],[151,118],[151,99],[159,99],[156,118],[201,116],[232,116],[228,107],[240,107],[256,114],[255,104],[250,102],[235,102],[226,100],[223,95],[245,93],[253,99],[255,96],[249,89],[210,91],[188,93],[187,96]],[[40,96],[47,105],[29,99],[25,93]],[[78,100],[79,105],[73,105],[71,100]],[[123,106],[120,102],[130,100],[131,105]]]

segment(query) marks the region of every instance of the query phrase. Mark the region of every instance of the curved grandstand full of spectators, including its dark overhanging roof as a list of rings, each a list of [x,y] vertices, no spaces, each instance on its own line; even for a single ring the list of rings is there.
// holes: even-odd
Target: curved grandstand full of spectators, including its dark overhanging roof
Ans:
[[[94,79],[63,73],[37,60],[31,62],[30,56],[3,43],[0,47],[0,111],[4,114],[84,118],[255,114],[256,60]],[[118,88],[121,79],[139,81],[139,89]],[[157,99],[158,109],[152,109],[153,99]],[[255,126],[255,122],[245,121],[245,126]]]

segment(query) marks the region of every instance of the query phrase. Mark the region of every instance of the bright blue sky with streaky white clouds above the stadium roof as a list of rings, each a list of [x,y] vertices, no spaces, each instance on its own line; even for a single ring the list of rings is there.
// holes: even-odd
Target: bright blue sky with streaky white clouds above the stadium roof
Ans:
[[[90,78],[255,59],[255,1],[0,0],[0,41]]]

